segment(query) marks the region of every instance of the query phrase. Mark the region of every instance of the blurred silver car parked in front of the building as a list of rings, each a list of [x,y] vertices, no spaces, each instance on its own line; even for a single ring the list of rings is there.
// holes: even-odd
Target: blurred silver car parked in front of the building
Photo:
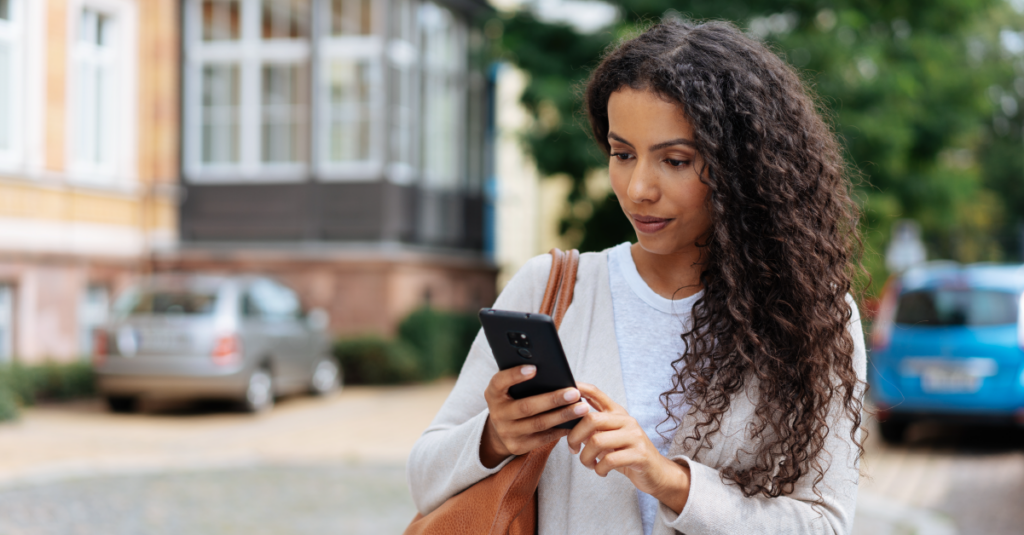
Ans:
[[[256,276],[156,276],[125,292],[95,333],[97,388],[111,410],[141,397],[233,399],[252,412],[275,397],[339,387],[323,310]]]

